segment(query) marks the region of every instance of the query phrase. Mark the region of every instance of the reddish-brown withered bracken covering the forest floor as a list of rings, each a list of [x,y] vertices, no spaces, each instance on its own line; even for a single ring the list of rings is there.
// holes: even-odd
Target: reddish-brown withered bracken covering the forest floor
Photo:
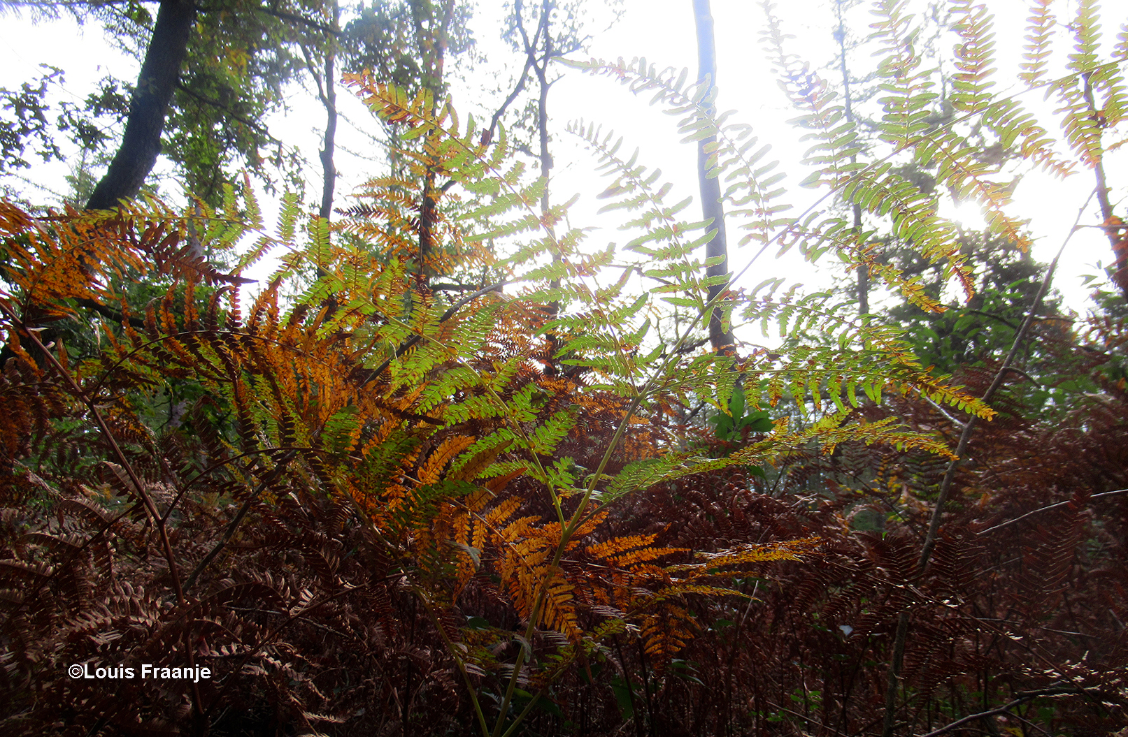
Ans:
[[[195,264],[168,270],[179,286],[202,276]],[[6,307],[16,357],[0,380],[3,723],[73,735],[466,734],[475,716],[444,640],[496,664],[472,664],[468,677],[486,703],[500,700],[528,600],[513,583],[520,570],[505,586],[499,576],[523,565],[508,558],[514,550],[531,554],[538,548],[528,540],[550,536],[550,525],[535,522],[554,514],[537,483],[520,469],[485,483],[495,501],[483,518],[526,522],[494,542],[481,533],[474,566],[466,545],[422,545],[421,535],[442,539],[443,525],[462,523],[455,512],[403,512],[395,489],[406,481],[388,477],[438,482],[467,445],[458,438],[483,436],[488,423],[423,433],[425,414],[408,401],[365,403],[360,389],[379,380],[353,371],[346,338],[319,334],[324,314],[280,323],[261,302],[240,323],[212,300],[211,313],[177,317],[171,305],[184,298],[175,287],[143,331],[124,328],[121,344],[111,336],[85,368],[59,348],[49,356]],[[194,341],[184,338],[193,330]],[[173,335],[183,340],[165,339]],[[973,438],[923,575],[929,494],[944,470],[934,456],[846,444],[829,456],[795,455],[772,481],[743,470],[699,473],[613,507],[599,530],[614,536],[592,526],[588,547],[562,561],[574,603],[546,614],[552,627],[529,643],[538,667],[520,687],[543,687],[545,700],[526,734],[876,734],[905,609],[913,624],[902,734],[1006,705],[952,734],[1125,727],[1128,391],[1114,362],[1126,335],[1105,320],[1084,346],[1060,334],[1057,343],[1040,338],[1067,378],[1095,391],[1040,417],[1024,406],[1029,378],[1015,373],[1010,399],[996,402],[1001,416]],[[373,418],[358,426],[355,443],[337,443],[329,410],[309,400],[303,382],[315,363],[321,381],[335,376],[335,391]],[[992,375],[968,370],[962,380],[975,394]],[[177,381],[195,398],[155,429],[144,398]],[[539,382],[545,414],[579,402],[581,420],[556,454],[593,465],[622,409],[573,396],[574,381],[525,367],[505,391],[511,398]],[[243,384],[271,392],[272,409],[256,409]],[[857,412],[958,435],[958,418],[919,401]],[[270,421],[277,442],[259,446]],[[669,429],[637,425],[626,455],[652,450]],[[699,428],[679,432],[726,446]],[[405,443],[406,465],[373,467],[347,450],[372,453],[377,436]],[[508,456],[475,458],[484,465]],[[342,474],[352,496],[333,491]],[[365,496],[380,479],[382,496]],[[506,534],[522,538],[505,543]],[[726,569],[747,598],[676,589],[677,566],[652,562],[810,538],[818,548],[802,562],[748,557]],[[411,561],[409,550],[418,551]],[[423,586],[431,588],[421,594]],[[569,650],[579,641],[570,628],[606,631],[597,647]],[[575,667],[555,671],[553,658]],[[78,663],[206,665],[218,675],[199,684],[74,680],[67,667]],[[523,703],[518,693],[517,708]]]

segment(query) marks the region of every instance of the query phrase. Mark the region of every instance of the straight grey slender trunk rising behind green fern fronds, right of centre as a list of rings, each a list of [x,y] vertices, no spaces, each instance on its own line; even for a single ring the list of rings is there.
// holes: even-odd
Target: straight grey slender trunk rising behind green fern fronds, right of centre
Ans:
[[[694,21],[697,27],[697,79],[708,80],[710,90],[716,83],[716,45],[713,39],[713,14],[708,0],[694,0]],[[715,113],[715,110],[713,110]],[[710,153],[706,149],[716,142],[711,135],[697,143],[697,181],[702,195],[702,214],[713,221],[716,233],[705,245],[705,258],[717,258],[720,261],[705,268],[706,276],[728,276],[729,246],[724,232],[724,206],[721,204],[721,181],[708,176]],[[708,339],[714,350],[731,349],[733,345],[732,329],[724,329],[721,316],[725,303],[717,298],[728,290],[728,284],[711,284],[708,299],[713,302],[713,313],[708,321]]]

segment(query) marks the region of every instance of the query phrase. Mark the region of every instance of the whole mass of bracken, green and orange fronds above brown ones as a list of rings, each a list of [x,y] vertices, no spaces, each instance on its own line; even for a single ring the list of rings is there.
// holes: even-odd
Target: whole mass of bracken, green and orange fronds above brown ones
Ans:
[[[987,19],[960,8],[960,109],[1064,172],[1043,128],[985,91]],[[972,146],[923,122],[934,96],[908,23],[883,6],[882,135],[1022,242]],[[934,199],[888,161],[851,161],[854,124],[776,32],[820,168],[805,184],[890,217],[969,286]],[[713,115],[712,88],[644,60],[576,65],[653,91],[688,140],[715,140],[711,176],[742,247],[834,250],[938,309],[865,248],[872,233],[790,213],[766,146]],[[684,220],[660,174],[598,125],[573,132],[610,178],[605,210],[633,233],[622,249],[585,242],[563,205],[541,210],[547,183],[526,175],[503,128],[483,136],[425,89],[346,82],[408,145],[403,176],[369,183],[332,225],[289,199],[266,232],[230,187],[215,210],[149,198],[34,217],[0,205],[12,355],[0,375],[0,723],[873,734],[885,705],[874,663],[909,607],[906,728],[1012,708],[1054,729],[1123,726],[1122,684],[1108,677],[1125,664],[1109,634],[1126,604],[1126,398],[1110,373],[1122,322],[1094,323],[1077,358],[1099,383],[1094,414],[1051,430],[979,401],[980,374],[935,376],[897,330],[852,319],[830,294],[778,279],[715,294],[737,282],[706,276],[712,223]],[[271,249],[281,266],[247,301],[243,273]],[[478,281],[448,296],[442,277]],[[712,352],[698,336],[714,312],[788,340]],[[91,316],[81,350],[43,329]],[[703,408],[716,432],[695,421]],[[963,471],[920,570],[952,414],[995,417],[992,450]],[[1054,450],[1031,464],[1020,450],[1032,443]],[[69,674],[83,664],[213,677]],[[1032,704],[1042,711],[1021,710]]]

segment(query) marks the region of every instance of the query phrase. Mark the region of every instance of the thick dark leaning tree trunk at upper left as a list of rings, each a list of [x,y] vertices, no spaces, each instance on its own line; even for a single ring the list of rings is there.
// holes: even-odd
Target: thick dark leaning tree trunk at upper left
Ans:
[[[192,0],[161,1],[130,100],[122,144],[86,203],[87,210],[108,210],[116,207],[122,198],[136,196],[157,162],[165,116],[180,78],[195,17],[196,6]]]

